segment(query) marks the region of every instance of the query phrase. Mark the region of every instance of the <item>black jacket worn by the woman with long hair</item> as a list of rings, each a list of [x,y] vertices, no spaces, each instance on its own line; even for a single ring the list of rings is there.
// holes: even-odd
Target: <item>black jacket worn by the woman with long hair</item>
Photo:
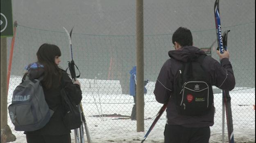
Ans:
[[[65,91],[68,96],[71,96],[75,103],[78,105],[82,100],[82,91],[80,86],[73,84],[72,80],[66,73],[66,71],[61,71],[61,84],[65,87]],[[53,84],[59,85],[59,78],[57,76],[52,77]],[[45,101],[48,103],[49,108],[54,110],[54,114],[50,118],[50,121],[41,129],[33,132],[24,132],[25,134],[41,134],[41,135],[63,135],[70,134],[63,121],[64,110],[61,100],[61,85],[56,88],[46,89],[43,86],[43,91],[45,94]]]

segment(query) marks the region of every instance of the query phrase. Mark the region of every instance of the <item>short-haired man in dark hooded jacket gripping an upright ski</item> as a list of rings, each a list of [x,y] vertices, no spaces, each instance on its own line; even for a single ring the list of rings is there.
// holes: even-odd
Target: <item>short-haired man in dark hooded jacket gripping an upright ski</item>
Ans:
[[[193,37],[189,29],[179,27],[172,36],[175,50],[169,51],[168,59],[161,68],[156,80],[154,94],[159,103],[168,102],[166,109],[167,124],[165,125],[165,143],[208,143],[210,126],[214,124],[215,107],[204,115],[189,116],[178,114],[174,99],[174,85],[177,84],[175,75],[183,64],[190,60],[191,55],[204,55],[197,47],[193,47]],[[211,85],[220,89],[232,90],[235,87],[235,77],[229,52],[220,54],[220,63],[206,56],[202,61],[202,68],[207,72]]]

